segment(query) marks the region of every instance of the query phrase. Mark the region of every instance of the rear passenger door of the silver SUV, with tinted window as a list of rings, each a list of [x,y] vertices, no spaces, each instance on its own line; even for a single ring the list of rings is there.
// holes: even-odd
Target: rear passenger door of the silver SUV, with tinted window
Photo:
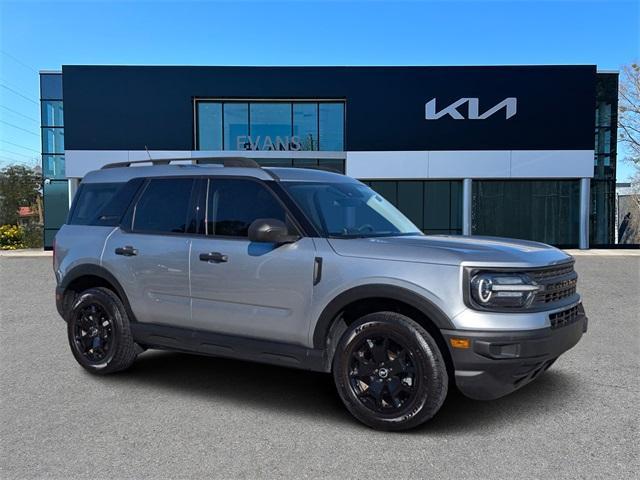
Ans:
[[[121,282],[139,322],[189,323],[189,234],[198,184],[185,177],[149,179],[105,244],[103,265]]]

